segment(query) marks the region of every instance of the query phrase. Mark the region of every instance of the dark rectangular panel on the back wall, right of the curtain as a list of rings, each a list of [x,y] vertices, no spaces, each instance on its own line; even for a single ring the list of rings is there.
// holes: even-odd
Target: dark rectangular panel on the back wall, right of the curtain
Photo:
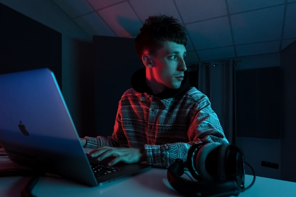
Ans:
[[[237,135],[279,138],[282,93],[280,67],[236,71]]]

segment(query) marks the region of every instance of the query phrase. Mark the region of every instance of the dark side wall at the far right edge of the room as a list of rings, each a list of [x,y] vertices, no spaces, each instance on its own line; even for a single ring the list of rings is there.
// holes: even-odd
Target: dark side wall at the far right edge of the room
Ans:
[[[281,66],[284,74],[284,113],[281,138],[281,177],[296,182],[296,42],[281,52]]]

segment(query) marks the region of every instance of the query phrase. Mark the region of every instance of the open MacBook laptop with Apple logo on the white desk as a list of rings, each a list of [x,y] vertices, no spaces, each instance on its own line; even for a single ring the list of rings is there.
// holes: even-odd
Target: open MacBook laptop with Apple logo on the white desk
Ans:
[[[108,158],[98,162],[86,154],[54,73],[47,68],[0,75],[0,143],[16,164],[89,186],[150,168],[118,163],[98,176],[97,169]]]

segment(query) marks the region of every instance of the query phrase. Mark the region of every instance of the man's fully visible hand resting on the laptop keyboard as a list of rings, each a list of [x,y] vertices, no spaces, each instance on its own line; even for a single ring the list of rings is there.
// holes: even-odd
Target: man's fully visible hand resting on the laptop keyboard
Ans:
[[[126,164],[131,163],[140,163],[146,161],[146,156],[141,152],[139,148],[114,148],[102,146],[91,151],[91,157],[96,157],[98,161],[113,156],[114,159],[108,163],[109,166],[112,166],[118,162],[124,162]]]

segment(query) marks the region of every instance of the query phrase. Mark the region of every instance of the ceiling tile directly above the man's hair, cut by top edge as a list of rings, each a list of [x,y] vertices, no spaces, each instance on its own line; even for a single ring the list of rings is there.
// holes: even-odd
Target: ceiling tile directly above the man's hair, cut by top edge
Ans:
[[[129,2],[143,23],[149,16],[158,14],[173,16],[181,22],[173,0],[149,0],[141,1],[141,3],[139,3],[139,0],[131,0]]]

